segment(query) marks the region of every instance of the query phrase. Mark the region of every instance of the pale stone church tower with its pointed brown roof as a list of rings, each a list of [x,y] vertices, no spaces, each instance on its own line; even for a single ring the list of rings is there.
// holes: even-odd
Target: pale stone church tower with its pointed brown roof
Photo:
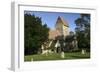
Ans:
[[[70,30],[69,30],[69,24],[64,21],[62,17],[58,17],[56,24],[55,24],[55,29],[60,32],[61,35],[66,37],[69,35]]]

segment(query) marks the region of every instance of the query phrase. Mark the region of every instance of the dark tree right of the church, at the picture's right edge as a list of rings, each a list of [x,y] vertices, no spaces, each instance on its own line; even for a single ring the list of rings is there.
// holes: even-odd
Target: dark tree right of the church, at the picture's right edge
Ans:
[[[80,14],[75,24],[78,47],[90,51],[90,14]]]

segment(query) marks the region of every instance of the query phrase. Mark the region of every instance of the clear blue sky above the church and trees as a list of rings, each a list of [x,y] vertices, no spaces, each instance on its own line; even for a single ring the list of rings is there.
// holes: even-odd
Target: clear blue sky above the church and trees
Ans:
[[[75,20],[80,17],[80,13],[61,13],[61,12],[42,12],[42,11],[25,11],[25,13],[34,14],[42,18],[42,24],[47,24],[50,29],[55,28],[58,16],[62,17],[69,24],[70,30],[75,31]]]

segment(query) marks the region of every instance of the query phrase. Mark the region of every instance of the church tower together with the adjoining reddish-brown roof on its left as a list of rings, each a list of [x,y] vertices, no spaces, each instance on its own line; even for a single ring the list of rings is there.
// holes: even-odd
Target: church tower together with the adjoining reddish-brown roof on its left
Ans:
[[[64,21],[62,17],[58,17],[55,29],[49,31],[49,39],[55,40],[57,36],[64,36],[64,38],[70,35],[69,24]]]

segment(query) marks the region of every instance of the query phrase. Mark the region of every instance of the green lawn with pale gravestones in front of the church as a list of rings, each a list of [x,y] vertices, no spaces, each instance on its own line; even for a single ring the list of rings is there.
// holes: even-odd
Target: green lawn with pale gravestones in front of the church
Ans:
[[[81,54],[81,52],[71,52],[71,53],[65,53],[65,58],[61,58],[60,54],[57,53],[52,53],[48,54],[47,56],[37,54],[37,55],[28,55],[24,57],[24,61],[47,61],[47,60],[69,60],[69,59],[89,59],[90,58],[90,53],[86,54]]]

